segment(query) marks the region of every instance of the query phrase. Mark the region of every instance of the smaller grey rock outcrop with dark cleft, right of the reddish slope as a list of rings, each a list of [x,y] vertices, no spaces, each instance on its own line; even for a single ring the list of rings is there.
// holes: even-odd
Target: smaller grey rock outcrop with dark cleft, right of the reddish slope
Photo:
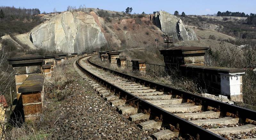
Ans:
[[[165,11],[160,10],[159,12],[155,13],[152,21],[158,28],[161,29],[162,32],[172,35],[173,40],[197,40],[196,33],[192,29],[187,31],[182,20]]]

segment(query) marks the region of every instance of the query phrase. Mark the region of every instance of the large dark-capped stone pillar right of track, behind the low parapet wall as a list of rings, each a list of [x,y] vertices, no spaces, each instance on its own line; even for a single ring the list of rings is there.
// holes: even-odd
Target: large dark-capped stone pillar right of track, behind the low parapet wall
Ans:
[[[167,50],[160,50],[164,55],[164,63],[167,71],[170,69],[179,70],[180,65],[204,65],[204,55],[209,48],[195,46],[171,47]]]

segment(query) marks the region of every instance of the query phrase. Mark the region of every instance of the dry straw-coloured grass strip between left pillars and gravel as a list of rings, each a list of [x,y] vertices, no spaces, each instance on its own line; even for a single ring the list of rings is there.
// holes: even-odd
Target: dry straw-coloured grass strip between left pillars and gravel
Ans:
[[[52,134],[51,128],[63,114],[61,110],[56,110],[65,99],[75,95],[77,92],[69,88],[75,85],[78,74],[73,67],[73,60],[67,60],[62,66],[57,66],[52,73],[52,77],[44,83],[44,107],[39,119],[36,121],[24,122],[20,126],[9,125],[7,127],[6,139],[18,140],[44,140]]]

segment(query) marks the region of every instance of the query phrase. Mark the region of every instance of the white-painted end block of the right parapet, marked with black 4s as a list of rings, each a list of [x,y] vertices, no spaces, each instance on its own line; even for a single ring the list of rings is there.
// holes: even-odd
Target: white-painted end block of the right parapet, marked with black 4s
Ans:
[[[244,70],[230,71],[220,74],[221,95],[230,97],[231,101],[243,102],[243,74]]]

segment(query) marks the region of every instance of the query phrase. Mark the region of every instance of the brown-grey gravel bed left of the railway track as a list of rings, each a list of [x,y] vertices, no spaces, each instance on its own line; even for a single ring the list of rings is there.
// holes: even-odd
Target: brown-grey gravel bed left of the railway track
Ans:
[[[152,139],[148,131],[138,128],[140,122],[119,114],[85,81],[78,83],[73,88],[80,94],[55,107],[62,115],[53,125],[50,139]]]

